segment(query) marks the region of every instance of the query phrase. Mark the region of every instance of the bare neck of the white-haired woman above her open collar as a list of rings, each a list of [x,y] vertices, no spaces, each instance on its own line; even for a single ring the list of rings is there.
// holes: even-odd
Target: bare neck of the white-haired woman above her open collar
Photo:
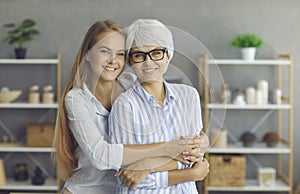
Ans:
[[[143,88],[151,95],[154,96],[155,101],[162,106],[165,99],[165,87],[161,81],[157,82],[144,82],[142,83]]]

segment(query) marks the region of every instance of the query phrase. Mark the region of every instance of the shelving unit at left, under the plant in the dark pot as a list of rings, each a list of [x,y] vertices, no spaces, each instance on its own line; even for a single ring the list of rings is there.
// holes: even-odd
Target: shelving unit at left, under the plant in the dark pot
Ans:
[[[41,66],[39,66],[41,65]],[[56,58],[31,58],[31,59],[0,59],[0,69],[3,68],[6,70],[6,68],[13,68],[12,70],[8,70],[5,74],[7,77],[13,76],[12,73],[14,71],[22,71],[23,68],[33,68],[36,69],[38,67],[38,71],[44,71],[43,73],[50,73],[49,74],[49,84],[51,85],[56,85],[56,99],[57,102],[60,101],[60,96],[61,96],[61,55],[58,53]],[[50,69],[49,69],[50,68]],[[2,70],[1,70],[2,71]],[[51,72],[48,72],[51,71]],[[31,73],[30,73],[31,72]],[[26,72],[27,73],[27,72]],[[29,75],[24,75],[24,78],[26,76],[33,76],[32,78],[36,78],[37,81],[42,79],[42,77],[39,77],[36,75],[36,73],[32,73],[32,71],[28,71]],[[30,77],[31,78],[31,77]],[[48,79],[48,78],[47,78]],[[30,80],[30,79],[29,79]],[[45,80],[47,81],[47,80]],[[27,82],[27,80],[25,80]],[[21,86],[23,89],[26,87]],[[19,101],[14,101],[11,103],[0,103],[0,111],[4,111],[7,114],[10,114],[10,117],[7,120],[4,120],[3,122],[0,120],[1,127],[4,128],[5,132],[8,133],[8,135],[15,135],[14,133],[20,133],[20,130],[24,128],[23,124],[21,123],[16,123],[18,126],[16,128],[17,130],[10,131],[8,127],[6,127],[6,122],[12,123],[14,120],[11,120],[10,118],[14,117],[14,113],[18,111],[37,111],[37,114],[34,113],[32,115],[28,115],[28,117],[25,117],[27,120],[27,123],[32,123],[33,120],[37,119],[39,116],[41,118],[36,121],[37,123],[48,123],[53,122],[53,116],[57,116],[57,109],[58,109],[58,103],[52,103],[52,104],[44,104],[44,103],[38,103],[38,104],[32,104],[28,103],[26,100],[19,100]],[[4,110],[5,109],[5,110]],[[39,113],[47,111],[46,114],[39,115]],[[54,111],[54,112],[53,112]],[[32,112],[33,113],[33,112]],[[49,113],[49,114],[48,114]],[[29,119],[30,118],[30,122]],[[6,118],[5,118],[6,119]],[[1,128],[0,127],[0,128]],[[19,138],[15,138],[19,139]],[[55,177],[53,177],[53,172],[55,167],[55,164],[51,164],[50,172],[48,172],[47,169],[49,169],[49,165],[45,161],[39,161],[38,158],[36,157],[43,157],[44,155],[47,155],[47,158],[55,152],[55,149],[52,147],[26,147],[24,143],[19,143],[19,144],[9,144],[9,143],[2,143],[0,144],[0,153],[4,155],[3,157],[5,158],[5,163],[8,164],[10,162],[22,162],[22,158],[27,156],[32,163],[36,164],[36,166],[40,166],[41,168],[43,167],[43,171],[45,171],[46,177],[49,179],[46,179],[46,182],[44,185],[32,185],[31,184],[31,179],[27,181],[15,181],[13,177],[13,171],[7,170],[7,180],[6,180],[6,185],[0,186],[0,193],[2,191],[6,191],[8,193],[18,193],[18,192],[23,192],[23,193],[57,193],[60,188],[60,183],[58,180],[56,180]],[[11,153],[18,153],[13,157],[10,157]],[[6,168],[10,168],[9,165],[5,165]],[[56,170],[55,170],[56,171]]]

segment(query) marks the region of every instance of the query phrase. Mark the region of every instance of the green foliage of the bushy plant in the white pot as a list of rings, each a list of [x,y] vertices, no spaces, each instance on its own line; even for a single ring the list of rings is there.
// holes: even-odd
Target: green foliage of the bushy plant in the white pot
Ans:
[[[258,48],[262,45],[262,39],[256,34],[245,33],[234,37],[230,45],[237,48],[255,47]]]

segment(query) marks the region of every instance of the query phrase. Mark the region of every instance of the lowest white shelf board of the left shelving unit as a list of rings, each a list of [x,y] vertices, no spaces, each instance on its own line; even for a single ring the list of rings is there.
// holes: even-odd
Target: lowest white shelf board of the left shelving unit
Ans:
[[[15,181],[13,179],[7,179],[6,185],[0,186],[0,190],[56,191],[58,187],[55,179],[46,179],[44,185],[32,185],[31,180]]]

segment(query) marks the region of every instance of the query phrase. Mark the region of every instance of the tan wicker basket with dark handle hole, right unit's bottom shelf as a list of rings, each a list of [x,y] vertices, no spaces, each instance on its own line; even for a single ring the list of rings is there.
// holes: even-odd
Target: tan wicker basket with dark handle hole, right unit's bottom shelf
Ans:
[[[245,186],[245,156],[210,155],[209,164],[209,186]]]

